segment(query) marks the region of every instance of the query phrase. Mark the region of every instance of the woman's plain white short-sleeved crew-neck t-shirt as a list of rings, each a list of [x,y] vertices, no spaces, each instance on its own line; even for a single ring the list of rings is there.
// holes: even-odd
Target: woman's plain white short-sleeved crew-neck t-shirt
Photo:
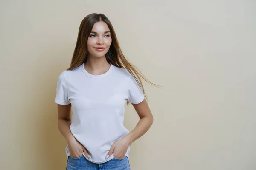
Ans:
[[[88,150],[93,163],[104,163],[111,145],[129,133],[123,125],[125,104],[142,102],[144,94],[131,74],[123,68],[110,66],[101,75],[89,74],[84,63],[63,71],[57,82],[55,103],[72,105],[73,136]],[[130,147],[126,152],[126,156]],[[70,155],[68,145],[67,157]],[[129,156],[128,156],[129,157]]]

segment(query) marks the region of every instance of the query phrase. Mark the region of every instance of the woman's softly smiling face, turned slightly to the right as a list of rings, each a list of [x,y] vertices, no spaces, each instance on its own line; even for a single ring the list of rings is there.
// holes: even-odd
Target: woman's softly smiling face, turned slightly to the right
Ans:
[[[105,57],[111,42],[112,39],[108,25],[103,21],[95,23],[87,40],[88,55],[90,57]]]

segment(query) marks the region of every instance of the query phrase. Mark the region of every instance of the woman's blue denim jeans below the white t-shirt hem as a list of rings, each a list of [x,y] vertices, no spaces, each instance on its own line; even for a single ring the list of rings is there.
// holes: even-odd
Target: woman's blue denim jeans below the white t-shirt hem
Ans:
[[[125,156],[122,159],[113,158],[105,163],[96,164],[84,158],[84,155],[79,158],[68,156],[66,170],[131,170],[129,158]]]

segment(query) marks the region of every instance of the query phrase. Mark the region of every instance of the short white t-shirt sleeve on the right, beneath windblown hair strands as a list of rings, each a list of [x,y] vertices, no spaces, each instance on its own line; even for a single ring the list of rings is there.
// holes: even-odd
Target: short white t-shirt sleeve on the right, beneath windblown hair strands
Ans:
[[[134,77],[130,75],[128,81],[128,101],[133,104],[138,104],[145,98],[144,93],[140,85],[137,84]]]

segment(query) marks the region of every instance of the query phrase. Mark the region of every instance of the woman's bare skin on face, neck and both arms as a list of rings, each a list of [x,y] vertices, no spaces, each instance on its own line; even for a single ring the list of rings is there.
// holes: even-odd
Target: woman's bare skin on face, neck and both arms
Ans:
[[[88,58],[87,62],[84,64],[84,69],[90,74],[100,75],[104,74],[110,68],[110,64],[107,62],[105,54],[108,52],[111,45],[111,33],[108,25],[103,21],[94,24],[92,32],[90,33],[87,45],[88,45]],[[105,50],[97,51],[95,47],[104,47]],[[58,108],[58,129],[61,134],[66,139],[69,147],[70,156],[78,158],[84,153],[85,156],[90,158],[87,149],[76,140],[70,131],[71,125],[71,104],[69,105],[59,105]],[[127,135],[121,139],[114,142],[106,155],[113,156],[116,159],[122,159],[125,157],[125,153],[135,140],[143,136],[144,133],[148,131],[153,123],[153,115],[150,111],[147,101],[144,99],[139,104],[132,104],[135,111],[137,112],[140,120],[136,127]]]

